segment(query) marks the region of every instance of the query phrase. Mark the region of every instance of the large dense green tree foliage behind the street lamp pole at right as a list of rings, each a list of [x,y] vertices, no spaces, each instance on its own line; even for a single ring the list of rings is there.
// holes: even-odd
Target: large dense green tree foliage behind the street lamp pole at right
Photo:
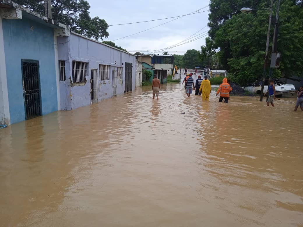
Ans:
[[[233,74],[233,81],[241,85],[261,78],[265,57],[269,10],[239,13],[249,2],[234,5],[234,1],[211,0],[209,15],[211,30],[219,58],[225,69]],[[222,8],[223,7],[223,8]],[[255,8],[268,8],[268,1],[261,0]],[[275,17],[275,10],[273,12]],[[273,77],[302,75],[303,66],[303,9],[295,1],[285,0],[279,11],[278,51],[281,52],[280,67],[274,69]],[[269,55],[271,53],[271,26]],[[270,56],[269,56],[270,58]],[[268,72],[267,72],[268,73]]]

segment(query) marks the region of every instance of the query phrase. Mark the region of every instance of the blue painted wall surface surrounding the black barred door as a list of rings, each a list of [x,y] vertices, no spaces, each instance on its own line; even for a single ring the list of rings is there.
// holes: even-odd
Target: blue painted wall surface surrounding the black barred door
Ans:
[[[58,110],[53,29],[24,17],[2,27],[11,123],[25,120],[21,59],[39,61],[42,114]]]

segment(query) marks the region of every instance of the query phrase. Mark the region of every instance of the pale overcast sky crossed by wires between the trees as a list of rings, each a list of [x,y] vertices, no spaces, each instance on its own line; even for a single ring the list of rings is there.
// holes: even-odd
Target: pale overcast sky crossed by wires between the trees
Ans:
[[[185,15],[203,8],[199,10],[199,12],[201,12],[208,10],[209,4],[209,0],[88,0],[88,2],[91,6],[90,16],[92,18],[98,16],[102,19],[105,19],[108,25],[147,21],[178,15]],[[110,26],[107,30],[109,32],[109,37],[105,40],[113,41],[115,39],[131,35],[133,33],[160,25],[173,19],[175,18],[132,25]],[[153,51],[153,53],[162,54],[163,51],[154,50],[159,50],[175,45],[185,40],[189,36],[193,35],[195,32],[197,32],[201,28],[204,28],[205,26],[206,27],[204,29],[197,32],[195,35],[198,35],[203,32],[205,35],[207,35],[207,23],[208,12],[201,12],[198,14],[179,18],[165,25],[161,25],[157,28],[153,28],[127,38],[119,39],[114,42],[116,43],[116,45],[127,49],[129,52],[142,52],[145,50]],[[200,35],[196,37],[194,36],[187,41],[199,38]],[[205,38],[206,37],[197,39],[196,41],[192,41],[187,44],[171,48],[167,51],[169,54],[184,54],[188,49],[199,50],[201,45],[205,44]]]

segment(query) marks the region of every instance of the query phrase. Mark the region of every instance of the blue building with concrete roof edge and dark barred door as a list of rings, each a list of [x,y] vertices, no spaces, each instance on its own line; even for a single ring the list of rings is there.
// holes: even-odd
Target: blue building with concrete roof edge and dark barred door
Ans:
[[[57,37],[67,26],[0,1],[0,124],[60,109]]]

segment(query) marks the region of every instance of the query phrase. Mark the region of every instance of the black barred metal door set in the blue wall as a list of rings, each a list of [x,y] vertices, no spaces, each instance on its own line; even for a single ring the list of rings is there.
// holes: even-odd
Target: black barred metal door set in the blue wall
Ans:
[[[39,61],[21,60],[25,119],[42,115]]]

